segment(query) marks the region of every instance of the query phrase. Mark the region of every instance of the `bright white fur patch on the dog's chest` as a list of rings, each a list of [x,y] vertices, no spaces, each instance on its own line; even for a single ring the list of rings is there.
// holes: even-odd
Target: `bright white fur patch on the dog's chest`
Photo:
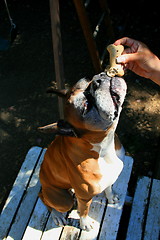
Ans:
[[[99,181],[101,192],[111,186],[118,178],[123,169],[124,149],[116,154],[114,146],[114,133],[108,134],[101,143],[92,144],[92,150],[98,152],[98,164],[102,178]],[[117,156],[118,155],[118,156]],[[121,158],[121,159],[120,159]]]

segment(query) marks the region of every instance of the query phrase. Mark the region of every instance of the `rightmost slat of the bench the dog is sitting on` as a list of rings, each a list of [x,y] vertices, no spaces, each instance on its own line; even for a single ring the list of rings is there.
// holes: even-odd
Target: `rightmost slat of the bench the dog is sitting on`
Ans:
[[[130,179],[132,165],[133,159],[129,156],[126,156],[123,171],[120,174],[118,180],[113,185],[113,190],[119,196],[119,203],[108,204],[99,239],[112,240],[116,239],[117,237],[123,205],[127,194],[127,187]]]

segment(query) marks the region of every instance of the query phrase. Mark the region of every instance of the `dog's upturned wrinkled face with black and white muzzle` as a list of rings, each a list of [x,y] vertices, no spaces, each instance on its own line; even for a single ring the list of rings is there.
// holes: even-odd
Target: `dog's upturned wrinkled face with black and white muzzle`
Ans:
[[[110,78],[102,72],[91,81],[81,79],[72,88],[66,104],[67,120],[75,127],[106,130],[119,117],[126,95],[122,78]]]

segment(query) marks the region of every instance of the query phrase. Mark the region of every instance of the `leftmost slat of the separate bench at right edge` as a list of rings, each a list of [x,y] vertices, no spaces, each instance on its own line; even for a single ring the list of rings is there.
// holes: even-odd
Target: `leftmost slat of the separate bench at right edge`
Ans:
[[[142,238],[150,184],[151,179],[148,177],[143,177],[138,180],[126,240],[141,240]]]

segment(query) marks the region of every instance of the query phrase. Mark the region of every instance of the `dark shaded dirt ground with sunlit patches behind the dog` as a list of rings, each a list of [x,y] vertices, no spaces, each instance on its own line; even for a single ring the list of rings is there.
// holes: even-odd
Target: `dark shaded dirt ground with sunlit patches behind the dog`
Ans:
[[[12,18],[19,28],[13,45],[0,51],[0,209],[30,147],[47,147],[52,135],[37,127],[58,119],[58,102],[45,90],[55,81],[49,1],[8,0]],[[88,8],[92,28],[100,10],[96,1]],[[114,3],[113,3],[114,2]],[[159,11],[156,1],[145,3],[108,1],[115,39],[129,36],[145,42],[160,56]],[[146,5],[148,4],[148,5]],[[5,6],[0,14],[0,37],[9,38],[10,25]],[[83,33],[71,0],[60,0],[65,81],[72,85],[92,76],[92,67]],[[102,27],[97,40],[100,54],[108,38]],[[130,194],[138,176],[155,176],[160,158],[160,88],[150,80],[127,72],[128,93],[117,132],[134,158]],[[159,170],[160,171],[160,170]]]

